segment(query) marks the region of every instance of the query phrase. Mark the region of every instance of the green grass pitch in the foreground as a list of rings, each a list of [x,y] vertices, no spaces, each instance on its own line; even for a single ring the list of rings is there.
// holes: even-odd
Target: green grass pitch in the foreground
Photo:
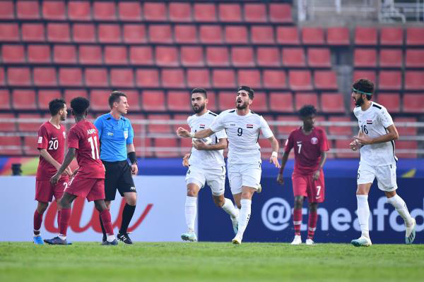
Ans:
[[[0,281],[424,281],[424,245],[0,243]]]

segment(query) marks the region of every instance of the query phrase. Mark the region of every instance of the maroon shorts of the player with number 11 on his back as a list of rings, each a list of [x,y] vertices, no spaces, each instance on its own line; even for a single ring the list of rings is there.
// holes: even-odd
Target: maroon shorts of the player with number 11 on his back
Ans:
[[[105,199],[105,179],[82,178],[76,176],[68,183],[65,192],[78,197],[87,198],[88,202]]]

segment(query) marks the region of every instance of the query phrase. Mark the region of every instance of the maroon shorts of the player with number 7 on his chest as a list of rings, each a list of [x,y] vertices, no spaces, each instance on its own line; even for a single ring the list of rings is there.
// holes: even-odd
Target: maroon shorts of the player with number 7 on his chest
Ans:
[[[324,172],[319,173],[318,180],[312,178],[313,174],[300,174],[293,172],[293,194],[307,197],[308,202],[324,202],[325,186]]]

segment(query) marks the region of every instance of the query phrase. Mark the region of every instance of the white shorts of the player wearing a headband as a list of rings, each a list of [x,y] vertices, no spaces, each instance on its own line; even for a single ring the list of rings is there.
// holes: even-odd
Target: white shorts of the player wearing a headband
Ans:
[[[360,163],[358,168],[357,183],[372,183],[377,178],[379,190],[391,192],[397,189],[396,184],[396,164],[389,166],[370,166]]]

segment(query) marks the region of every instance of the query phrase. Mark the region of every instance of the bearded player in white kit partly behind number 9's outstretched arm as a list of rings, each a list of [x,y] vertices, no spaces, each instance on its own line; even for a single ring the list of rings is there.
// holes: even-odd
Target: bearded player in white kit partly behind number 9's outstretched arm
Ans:
[[[217,114],[208,111],[208,96],[206,90],[194,88],[192,90],[193,116],[187,118],[190,132],[195,133],[210,128]],[[181,235],[182,240],[196,241],[194,221],[196,219],[196,200],[199,190],[208,183],[212,190],[213,202],[230,214],[232,228],[237,233],[239,211],[232,201],[224,197],[225,192],[225,161],[223,152],[227,147],[227,134],[220,130],[204,139],[193,139],[192,152],[186,154],[183,165],[189,169],[186,175],[187,197],[185,202],[185,218],[187,233]]]

